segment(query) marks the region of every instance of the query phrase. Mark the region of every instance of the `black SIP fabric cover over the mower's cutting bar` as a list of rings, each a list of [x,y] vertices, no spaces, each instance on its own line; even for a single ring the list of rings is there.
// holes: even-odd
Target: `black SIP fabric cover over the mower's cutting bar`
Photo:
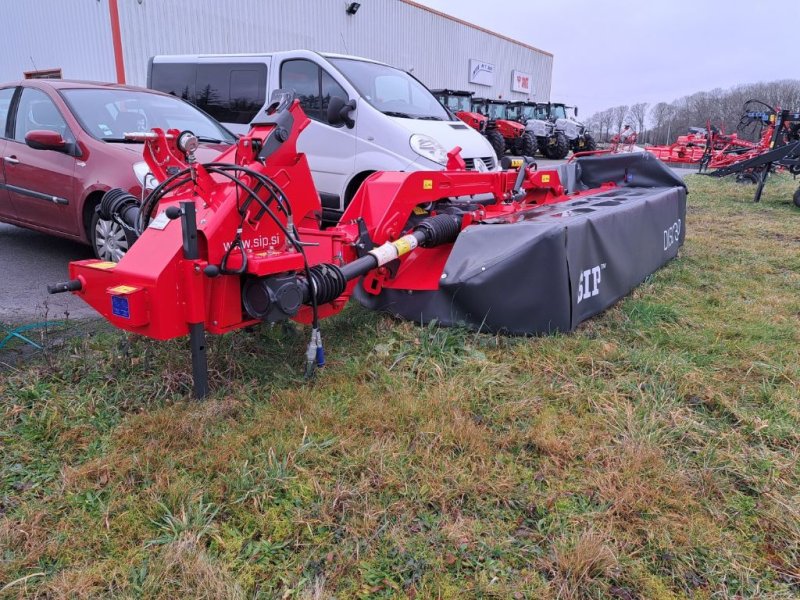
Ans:
[[[683,244],[686,186],[642,152],[559,167],[569,192],[619,187],[472,225],[436,291],[356,288],[367,308],[486,332],[571,331],[627,295]]]

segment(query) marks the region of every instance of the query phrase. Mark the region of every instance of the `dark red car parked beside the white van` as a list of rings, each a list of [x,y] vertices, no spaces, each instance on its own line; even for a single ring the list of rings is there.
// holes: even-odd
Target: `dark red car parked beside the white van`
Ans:
[[[119,260],[130,240],[95,211],[111,188],[157,185],[143,145],[125,133],[190,130],[213,159],[235,137],[183,100],[116,84],[29,80],[0,85],[0,221],[88,243]]]

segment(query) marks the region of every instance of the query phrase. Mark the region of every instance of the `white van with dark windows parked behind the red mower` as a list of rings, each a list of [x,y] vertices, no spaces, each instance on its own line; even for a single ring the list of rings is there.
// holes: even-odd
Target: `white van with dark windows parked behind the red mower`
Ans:
[[[389,65],[308,50],[270,54],[175,55],[150,59],[148,87],[174,94],[235,133],[293,90],[311,124],[301,134],[326,219],[335,219],[374,171],[441,169],[461,147],[467,168],[493,170],[480,133],[456,119],[408,73]],[[334,100],[331,107],[331,98]]]

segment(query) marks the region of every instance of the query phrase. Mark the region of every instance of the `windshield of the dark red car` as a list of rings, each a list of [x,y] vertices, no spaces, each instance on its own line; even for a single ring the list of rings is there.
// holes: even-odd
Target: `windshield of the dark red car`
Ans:
[[[201,142],[232,144],[236,138],[191,104],[162,94],[124,89],[61,90],[72,112],[93,137],[125,142],[125,134],[161,129],[189,130]]]

